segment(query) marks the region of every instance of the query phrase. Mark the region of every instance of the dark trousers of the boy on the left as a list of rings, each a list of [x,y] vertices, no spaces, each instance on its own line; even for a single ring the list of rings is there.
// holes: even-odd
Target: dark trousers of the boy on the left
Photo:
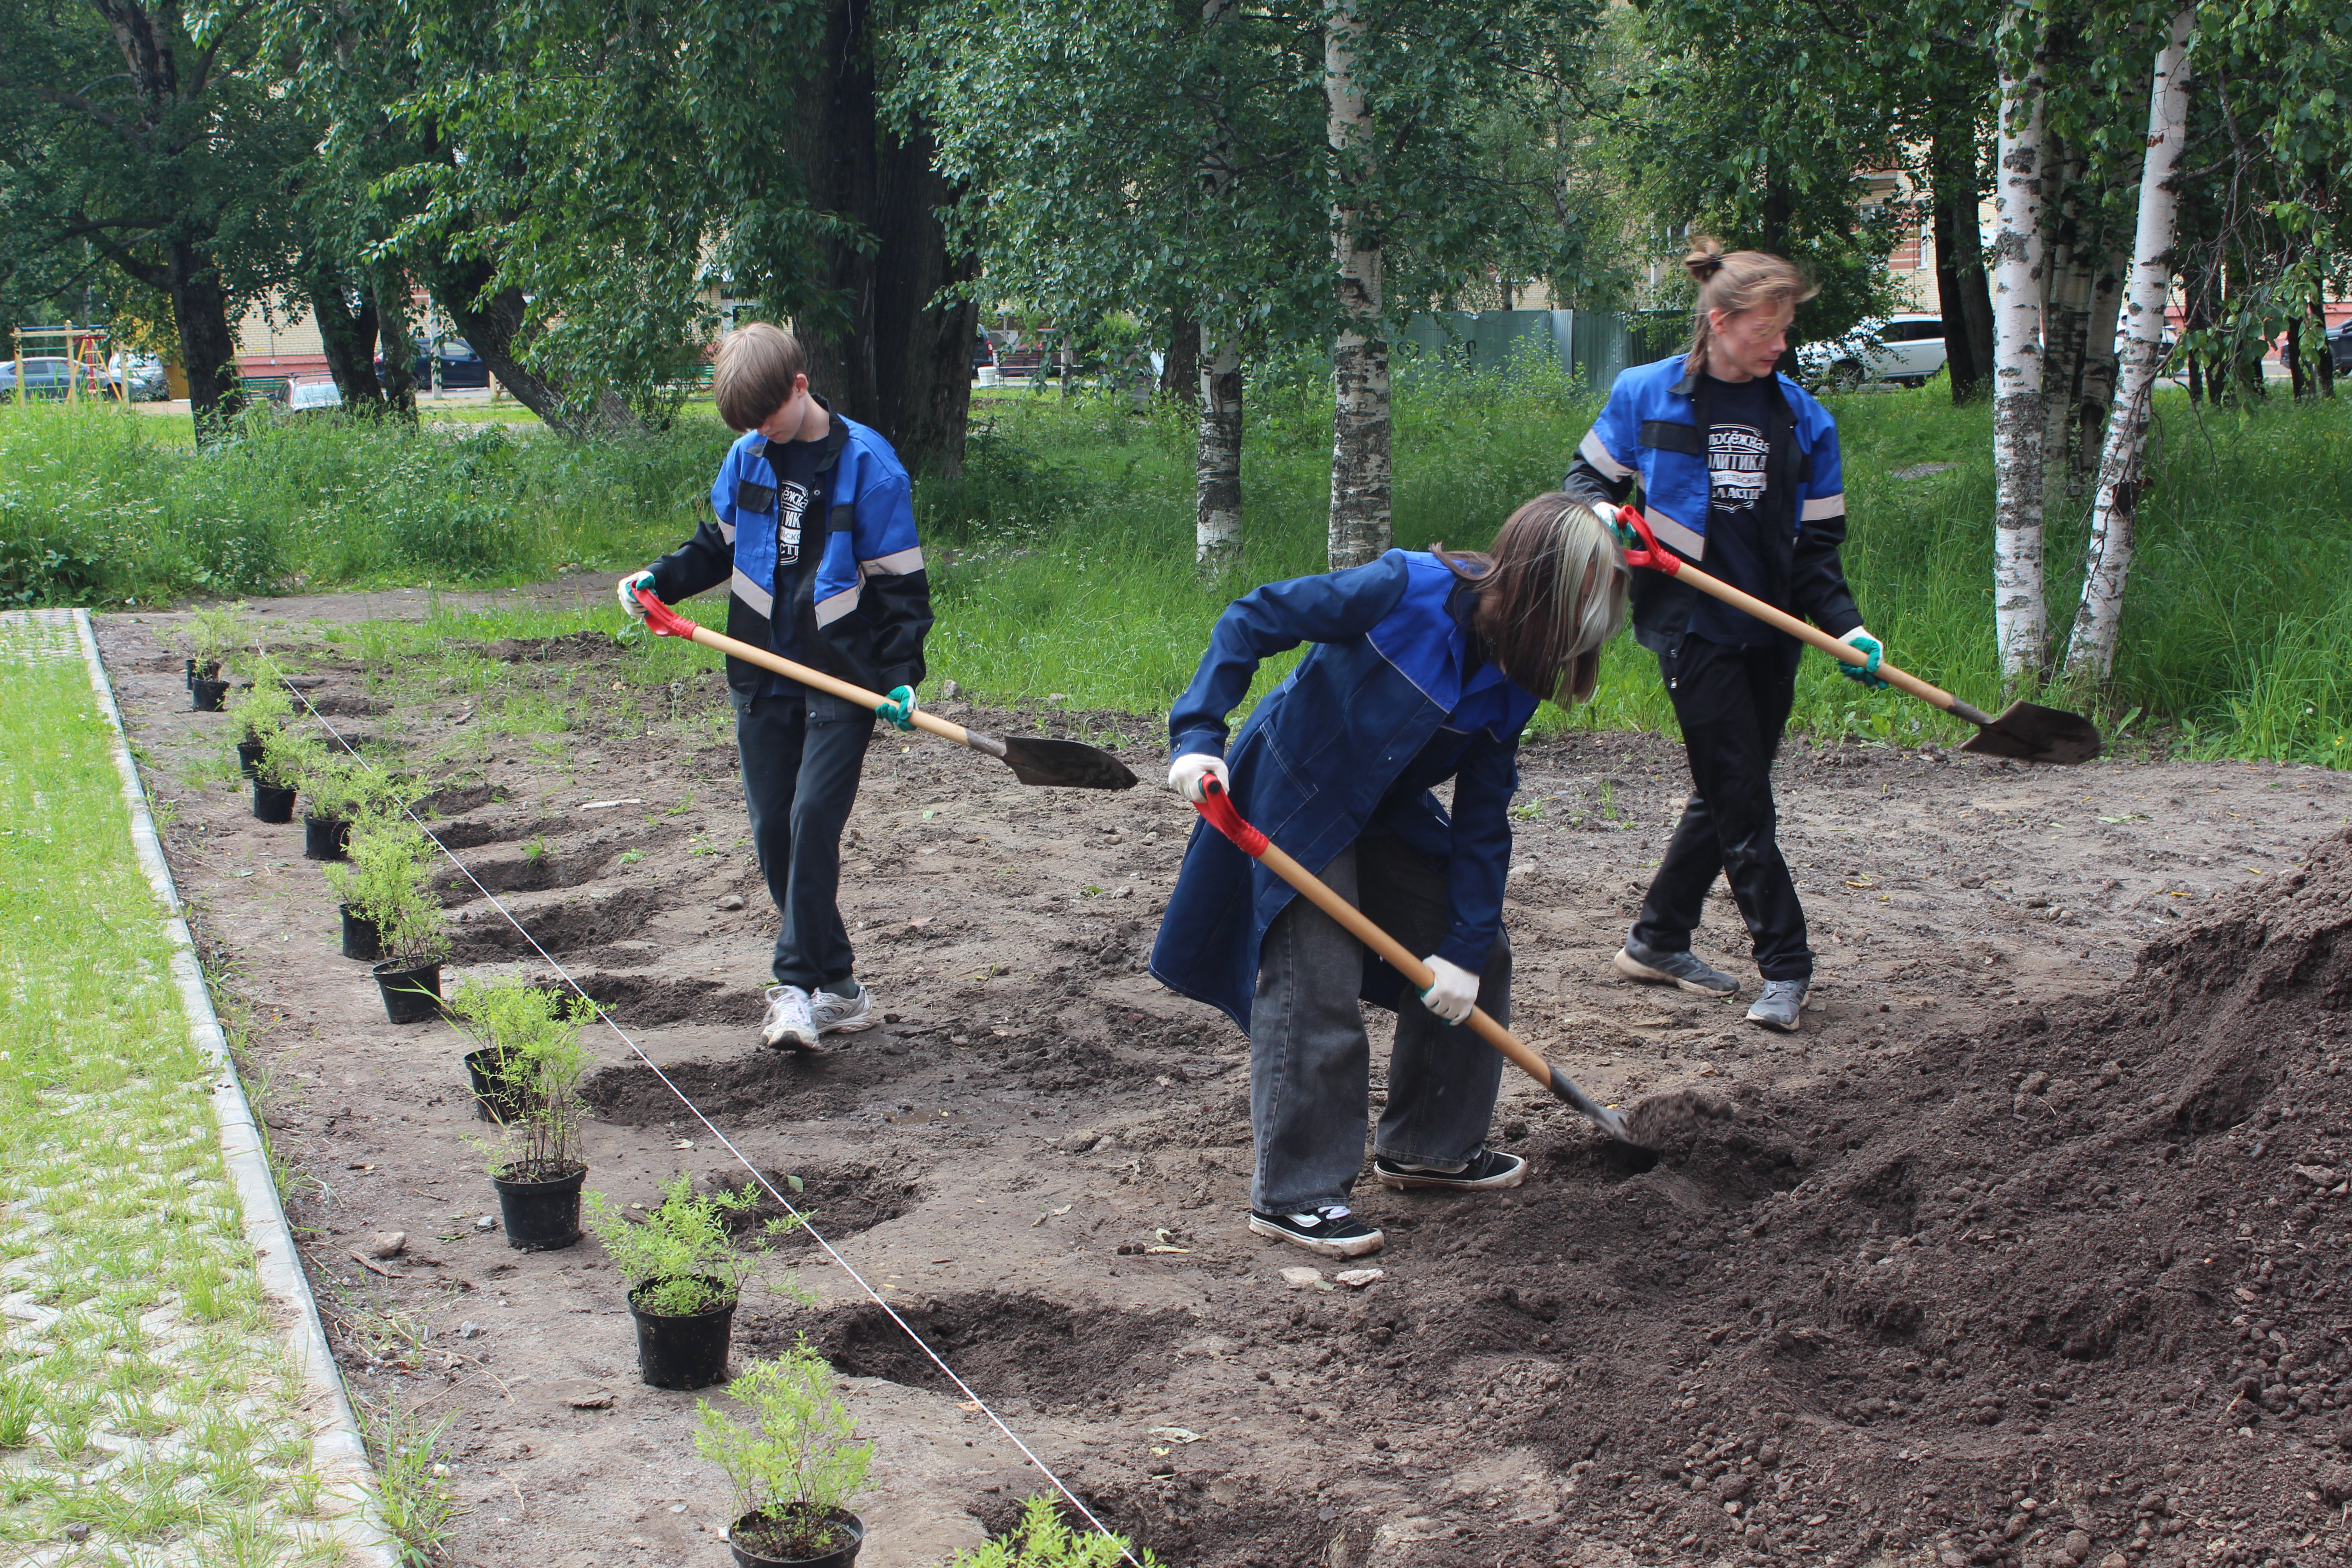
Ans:
[[[875,715],[823,691],[736,696],[736,752],[743,804],[767,896],[783,914],[776,983],[844,997],[851,990],[849,931],[835,903],[842,886],[842,827],[858,797],[858,769]]]

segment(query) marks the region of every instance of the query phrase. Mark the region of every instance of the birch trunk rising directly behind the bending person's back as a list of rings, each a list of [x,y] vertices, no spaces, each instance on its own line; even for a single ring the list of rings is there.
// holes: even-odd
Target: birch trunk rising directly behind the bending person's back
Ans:
[[[1355,0],[1324,9],[1324,103],[1334,165],[1331,252],[1338,263],[1341,329],[1331,346],[1331,571],[1388,550],[1388,343],[1381,331],[1381,242],[1364,233],[1357,188],[1369,155],[1364,89],[1355,52],[1364,21]]]

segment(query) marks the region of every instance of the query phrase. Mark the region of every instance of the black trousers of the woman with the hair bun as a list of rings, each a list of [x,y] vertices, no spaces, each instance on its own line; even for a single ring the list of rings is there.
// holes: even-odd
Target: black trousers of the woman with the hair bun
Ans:
[[[1771,762],[1797,701],[1802,654],[1804,644],[1792,637],[1738,649],[1684,632],[1672,654],[1658,656],[1691,757],[1691,802],[1632,929],[1644,947],[1689,952],[1708,889],[1722,872],[1748,922],[1757,973],[1813,978],[1804,905],[1773,837],[1780,818],[1771,799]]]

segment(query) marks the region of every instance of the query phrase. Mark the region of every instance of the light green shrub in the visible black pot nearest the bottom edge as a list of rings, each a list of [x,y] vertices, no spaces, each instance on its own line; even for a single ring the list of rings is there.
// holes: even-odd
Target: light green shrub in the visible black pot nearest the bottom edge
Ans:
[[[854,1441],[856,1418],[833,1396],[833,1366],[800,1335],[774,1361],[748,1363],[727,1392],[753,1425],[696,1399],[694,1448],[734,1483],[727,1544],[736,1563],[849,1568],[866,1544],[866,1521],[847,1505],[866,1488],[875,1446]]]

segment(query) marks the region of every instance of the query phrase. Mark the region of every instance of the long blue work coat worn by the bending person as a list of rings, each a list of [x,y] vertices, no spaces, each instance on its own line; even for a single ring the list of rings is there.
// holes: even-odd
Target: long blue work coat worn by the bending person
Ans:
[[[1265,583],[1218,616],[1192,686],[1169,712],[1169,743],[1225,755],[1225,715],[1249,693],[1258,663],[1317,644],[1249,715],[1232,755],[1232,804],[1301,865],[1319,872],[1367,832],[1390,832],[1444,865],[1446,938],[1437,954],[1477,973],[1503,926],[1510,872],[1510,797],[1519,788],[1519,731],[1536,696],[1475,658],[1463,588],[1432,555],[1390,550],[1329,576]],[[1468,670],[1468,677],[1465,677]],[[1501,686],[1498,715],[1461,743],[1454,813],[1421,790],[1390,785],[1439,741],[1465,698]],[[1249,1027],[1258,950],[1296,893],[1207,823],[1192,827],[1183,870],[1152,943],[1152,976]],[[1397,1006],[1402,976],[1364,954],[1362,997]]]

